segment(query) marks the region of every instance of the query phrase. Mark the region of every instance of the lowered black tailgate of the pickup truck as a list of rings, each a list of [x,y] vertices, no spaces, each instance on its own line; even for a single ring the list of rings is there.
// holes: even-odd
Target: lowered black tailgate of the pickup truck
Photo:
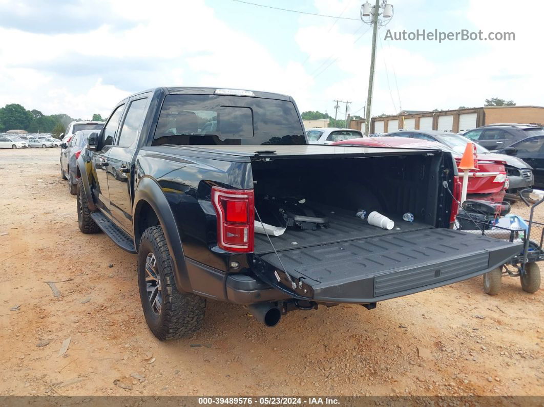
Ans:
[[[279,256],[295,281],[308,287],[308,299],[362,304],[475,277],[521,251],[522,243],[459,230],[425,229],[296,248]],[[289,290],[276,254],[260,257],[269,266],[262,277],[281,291]],[[280,281],[271,278],[270,271],[276,271]]]

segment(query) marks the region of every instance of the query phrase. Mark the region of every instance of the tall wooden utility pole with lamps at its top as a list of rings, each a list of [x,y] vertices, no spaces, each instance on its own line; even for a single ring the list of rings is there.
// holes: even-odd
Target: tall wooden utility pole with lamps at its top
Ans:
[[[361,20],[363,17],[370,17],[372,19],[364,21],[364,23],[370,24],[373,27],[372,30],[372,52],[370,53],[370,74],[368,78],[368,96],[366,112],[364,114],[364,135],[368,136],[370,133],[370,107],[372,107],[372,91],[374,86],[374,66],[376,62],[376,37],[378,36],[378,25],[385,26],[393,17],[393,5],[387,4],[387,0],[383,0],[383,4],[380,6],[380,0],[376,0],[374,6],[370,5],[368,1],[361,6]],[[380,13],[380,11],[382,11]],[[379,20],[378,17],[382,16],[384,20]]]

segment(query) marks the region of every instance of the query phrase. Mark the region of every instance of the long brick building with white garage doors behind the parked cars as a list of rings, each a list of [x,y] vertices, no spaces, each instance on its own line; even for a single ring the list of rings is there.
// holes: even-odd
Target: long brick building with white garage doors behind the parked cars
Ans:
[[[541,106],[493,106],[471,109],[455,109],[373,117],[370,134],[390,133],[398,129],[441,130],[463,133],[475,127],[493,123],[544,124],[544,107]],[[352,120],[350,128],[364,131],[364,119]]]

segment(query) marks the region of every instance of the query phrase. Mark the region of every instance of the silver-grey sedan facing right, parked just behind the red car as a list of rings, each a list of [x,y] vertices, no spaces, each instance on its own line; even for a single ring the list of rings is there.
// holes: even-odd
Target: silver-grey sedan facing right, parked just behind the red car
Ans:
[[[387,133],[390,137],[410,137],[411,139],[436,141],[452,148],[456,153],[463,154],[465,147],[471,140],[464,136],[455,133],[440,132],[437,130],[403,130],[402,132]],[[506,191],[513,195],[518,195],[523,189],[533,186],[535,180],[533,176],[533,168],[527,163],[516,158],[504,154],[491,153],[481,144],[476,144],[478,155],[484,155],[486,159],[503,160],[506,174],[508,174],[509,187]]]

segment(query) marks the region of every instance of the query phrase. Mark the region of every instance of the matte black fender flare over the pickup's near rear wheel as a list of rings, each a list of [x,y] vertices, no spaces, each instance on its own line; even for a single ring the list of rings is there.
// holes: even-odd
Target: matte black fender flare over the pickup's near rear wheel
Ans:
[[[193,292],[189,273],[187,271],[185,254],[183,253],[183,246],[181,244],[180,231],[177,229],[174,213],[170,208],[168,200],[164,196],[163,190],[159,184],[157,184],[157,181],[145,176],[138,180],[138,189],[134,191],[132,227],[134,230],[136,250],[139,250],[140,245],[137,223],[141,204],[143,202],[146,202],[151,206],[157,215],[160,226],[163,228],[166,245],[168,245],[168,251],[170,252],[170,258],[172,259],[172,267],[174,267],[174,280],[177,289],[185,292]]]

